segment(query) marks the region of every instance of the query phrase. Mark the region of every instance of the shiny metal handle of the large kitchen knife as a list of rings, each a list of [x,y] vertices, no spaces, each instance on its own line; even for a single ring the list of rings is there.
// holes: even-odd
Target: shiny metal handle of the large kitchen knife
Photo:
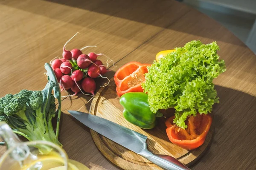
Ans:
[[[148,159],[152,163],[158,165],[159,167],[163,168],[164,170],[190,170],[184,164],[182,164],[177,159],[173,158],[172,156],[168,155],[157,155],[151,153],[148,150],[148,144],[144,144],[143,148],[138,153],[140,156],[143,156],[145,159]]]

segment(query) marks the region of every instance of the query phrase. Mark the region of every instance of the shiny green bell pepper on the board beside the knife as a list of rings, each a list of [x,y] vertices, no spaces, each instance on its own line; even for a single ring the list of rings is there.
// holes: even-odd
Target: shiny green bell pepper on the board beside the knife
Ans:
[[[148,95],[143,92],[129,92],[120,97],[120,104],[124,107],[125,119],[143,129],[152,129],[156,125],[156,117],[162,113],[152,113],[148,105]]]

